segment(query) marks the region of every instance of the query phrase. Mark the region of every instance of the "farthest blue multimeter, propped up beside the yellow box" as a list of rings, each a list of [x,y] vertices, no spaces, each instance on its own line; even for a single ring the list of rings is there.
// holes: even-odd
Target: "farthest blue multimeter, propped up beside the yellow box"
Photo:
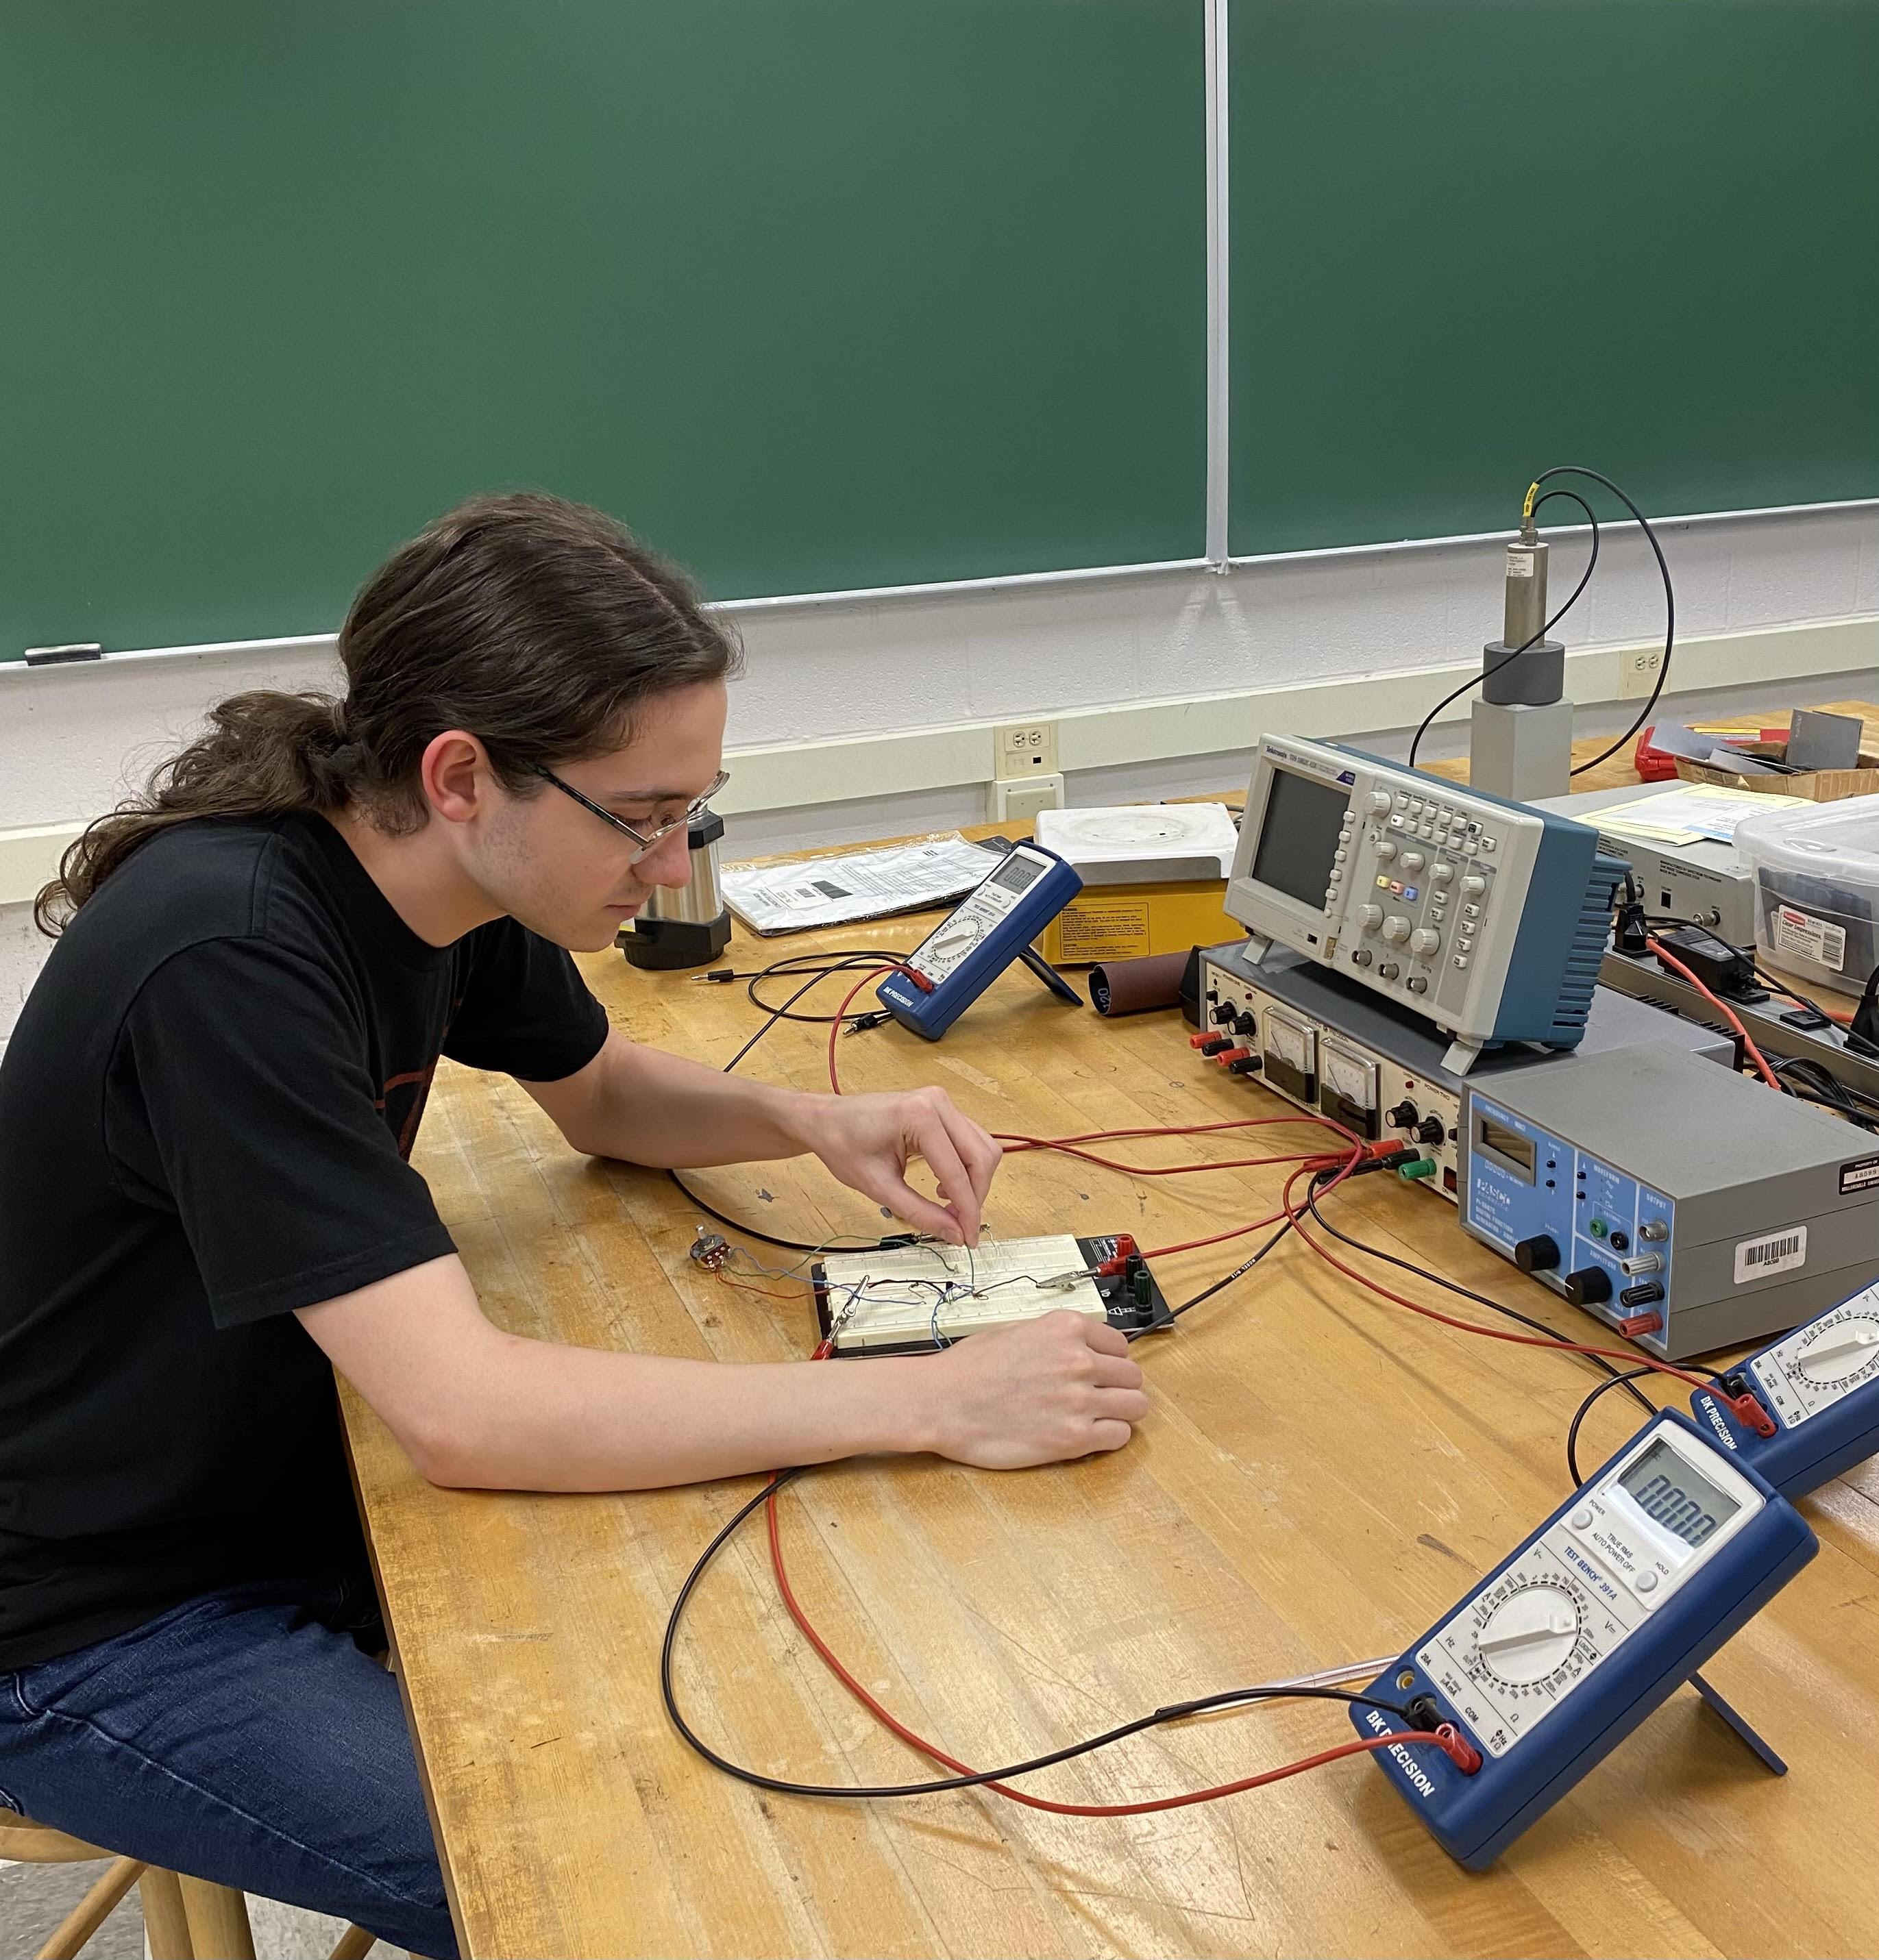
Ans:
[[[1077,990],[1032,947],[1081,890],[1083,878],[1055,851],[1016,845],[908,955],[906,964],[930,982],[930,992],[892,972],[875,990],[881,1005],[916,1035],[938,1041],[1012,960],[1022,960],[1053,994],[1081,1007]]]

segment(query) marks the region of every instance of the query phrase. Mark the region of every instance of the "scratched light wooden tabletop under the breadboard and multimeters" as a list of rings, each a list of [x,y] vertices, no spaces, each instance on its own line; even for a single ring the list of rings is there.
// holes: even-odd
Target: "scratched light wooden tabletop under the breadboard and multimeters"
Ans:
[[[730,958],[910,949],[926,923],[739,933]],[[757,1025],[741,986],[635,972],[618,955],[583,966],[634,1039],[722,1064]],[[940,1045],[898,1027],[843,1039],[843,1084],[938,1082],[987,1127],[1034,1137],[1287,1115],[1257,1084],[1204,1066],[1185,1035],[1179,1015],[1102,1021],[1012,970]],[[826,1086],[810,1027],[779,1025],[743,1066]],[[1312,1143],[1287,1123],[1126,1149],[1175,1164]],[[759,1294],[698,1270],[686,1247],[700,1211],[659,1172],[571,1152],[508,1080],[445,1062],[416,1162],[508,1329],[728,1362],[798,1358],[814,1343],[800,1282],[761,1280]],[[720,1209],[783,1239],[883,1229],[814,1162],[694,1176]],[[1132,1180],[1014,1154],[989,1225],[1134,1231],[1155,1247],[1271,1213],[1281,1180],[1275,1168]],[[1330,1205],[1379,1247],[1587,1333],[1428,1190],[1377,1176]],[[1214,1247],[1159,1260],[1157,1274],[1181,1299],[1234,1258]],[[1114,1456],[1020,1474],[877,1458],[818,1470],[781,1499],[810,1617],[955,1756],[1010,1762],[1171,1699],[1398,1652],[1565,1494],[1561,1439],[1593,1380],[1563,1354],[1420,1321],[1291,1241],[1138,1354],[1153,1407]],[[755,1480],[592,1497],[439,1492],[343,1394],[467,1954],[1879,1950],[1873,1466],[1806,1499],[1820,1556],[1706,1668],[1793,1772],[1769,1776],[1683,1690],[1471,1876],[1363,1758],[1136,1819],[1053,1817],[985,1791],[839,1803],[736,1784],[667,1725],[657,1662],[681,1580]],[[1585,1458],[1632,1429],[1606,1397]],[[761,1529],[700,1592],[677,1672],[702,1735],[763,1772],[930,1774],[796,1635]],[[1342,1709],[1285,1703],[1161,1729],[1030,1788],[1149,1799],[1347,1737]]]

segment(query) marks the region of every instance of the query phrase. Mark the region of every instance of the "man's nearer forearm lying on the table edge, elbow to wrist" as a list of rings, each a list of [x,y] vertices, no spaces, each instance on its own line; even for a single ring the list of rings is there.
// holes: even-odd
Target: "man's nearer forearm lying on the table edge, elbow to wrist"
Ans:
[[[928,1362],[726,1366],[524,1341],[465,1370],[414,1450],[433,1484],[655,1490],[702,1478],[934,1446]]]

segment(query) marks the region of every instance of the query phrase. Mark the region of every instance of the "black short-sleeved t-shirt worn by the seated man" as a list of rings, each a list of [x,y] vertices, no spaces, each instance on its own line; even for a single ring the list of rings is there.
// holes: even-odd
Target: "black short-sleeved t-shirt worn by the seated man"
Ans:
[[[316,815],[98,888],[0,1060],[0,1670],[363,1564],[292,1309],[451,1250],[406,1162],[439,1054],[553,1082],[604,1039],[567,953],[426,945]]]

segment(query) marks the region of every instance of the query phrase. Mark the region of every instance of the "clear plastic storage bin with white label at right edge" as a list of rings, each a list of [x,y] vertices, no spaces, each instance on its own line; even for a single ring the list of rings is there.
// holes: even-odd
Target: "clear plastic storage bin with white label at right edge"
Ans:
[[[1859,994],[1879,964],[1879,796],[1795,804],[1736,825],[1755,870],[1755,947],[1797,980]]]

